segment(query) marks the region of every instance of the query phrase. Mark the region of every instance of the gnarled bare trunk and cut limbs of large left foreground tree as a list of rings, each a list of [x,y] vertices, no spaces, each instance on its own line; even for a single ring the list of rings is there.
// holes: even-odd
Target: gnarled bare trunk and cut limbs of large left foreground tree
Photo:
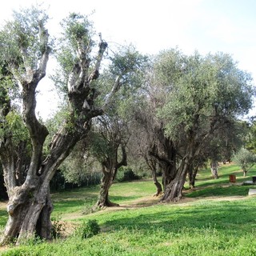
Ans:
[[[6,134],[0,140],[0,157],[4,171],[4,180],[6,184],[9,202],[7,212],[9,219],[6,224],[5,232],[2,236],[1,243],[10,242],[17,238],[17,243],[23,238],[39,235],[41,238],[50,238],[51,223],[50,213],[53,206],[50,202],[50,180],[53,178],[58,166],[70,154],[75,144],[82,138],[86,138],[90,130],[91,118],[102,114],[110,98],[113,97],[120,76],[114,83],[114,90],[109,94],[107,102],[103,103],[102,108],[96,109],[94,99],[97,97],[96,90],[91,83],[98,78],[99,66],[102,62],[102,56],[106,50],[106,42],[100,42],[98,56],[94,66],[89,70],[90,59],[85,55],[85,49],[78,51],[78,63],[74,64],[74,70],[70,73],[69,78],[69,102],[70,118],[66,119],[62,128],[54,135],[50,143],[50,153],[44,159],[42,156],[43,144],[48,135],[46,126],[40,123],[35,114],[36,107],[36,88],[38,82],[46,75],[46,64],[48,62],[50,47],[48,46],[48,32],[43,27],[42,22],[38,22],[40,33],[40,58],[38,69],[34,70],[27,56],[26,49],[21,46],[22,69],[25,66],[25,74],[18,75],[13,71],[14,78],[22,86],[22,118],[30,134],[32,145],[32,154],[30,165],[26,173],[25,181],[20,184],[15,177],[18,170],[18,162],[15,161],[15,146],[12,134]],[[76,70],[75,67],[79,66]],[[17,74],[17,76],[16,76]],[[96,75],[97,74],[97,75]],[[6,113],[7,112],[7,113]],[[8,111],[2,111],[3,118],[6,118]]]

